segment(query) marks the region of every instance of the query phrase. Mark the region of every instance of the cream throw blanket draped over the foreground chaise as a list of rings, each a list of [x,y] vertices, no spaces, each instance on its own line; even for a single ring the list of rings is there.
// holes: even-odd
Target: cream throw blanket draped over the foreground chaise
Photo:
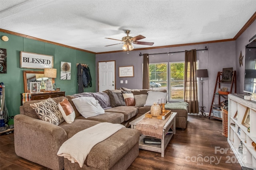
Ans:
[[[80,168],[82,168],[84,160],[92,147],[122,128],[125,128],[125,126],[103,122],[89,127],[88,129],[84,129],[65,141],[61,145],[57,155],[68,158],[72,163],[78,162]]]

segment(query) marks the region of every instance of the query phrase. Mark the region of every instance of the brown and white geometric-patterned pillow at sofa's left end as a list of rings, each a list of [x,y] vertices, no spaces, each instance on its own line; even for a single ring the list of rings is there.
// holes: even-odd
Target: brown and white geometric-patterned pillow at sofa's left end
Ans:
[[[58,104],[52,98],[30,104],[30,107],[36,111],[38,117],[43,121],[48,121],[54,125],[59,125],[64,121]]]

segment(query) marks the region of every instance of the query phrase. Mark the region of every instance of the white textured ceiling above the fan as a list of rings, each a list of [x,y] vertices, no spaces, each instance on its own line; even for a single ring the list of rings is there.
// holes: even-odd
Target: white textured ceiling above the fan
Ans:
[[[0,0],[0,28],[101,53],[143,35],[153,46],[232,39],[256,12],[256,0]]]

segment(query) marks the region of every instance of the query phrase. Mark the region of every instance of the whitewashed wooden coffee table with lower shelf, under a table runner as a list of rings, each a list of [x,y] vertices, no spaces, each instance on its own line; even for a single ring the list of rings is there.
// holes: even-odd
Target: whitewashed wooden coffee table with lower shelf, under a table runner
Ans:
[[[172,139],[172,136],[176,133],[176,112],[172,113],[172,115],[170,115],[167,119],[168,121],[165,123],[164,127],[163,127],[163,135],[162,135],[162,140],[161,140],[161,145],[150,145],[150,144],[144,144],[143,139],[144,138],[154,138],[154,137],[148,137],[144,134],[141,134],[140,136],[140,140],[139,140],[139,148],[140,149],[144,149],[144,150],[150,150],[150,151],[154,151],[154,152],[160,152],[161,156],[164,157],[164,150],[166,149],[168,143],[170,142],[170,140]],[[132,129],[136,129],[136,125],[138,124],[138,122],[140,122],[143,118],[145,117],[145,114],[138,117],[137,119],[135,119],[134,121],[130,122],[131,128]],[[152,118],[154,119],[154,118]],[[172,131],[173,133],[170,133],[167,135],[168,130],[172,127]]]

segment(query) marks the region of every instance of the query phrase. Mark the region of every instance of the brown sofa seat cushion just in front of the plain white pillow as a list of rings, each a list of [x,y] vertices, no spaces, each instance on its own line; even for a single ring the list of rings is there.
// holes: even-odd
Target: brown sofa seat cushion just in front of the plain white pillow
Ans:
[[[86,119],[82,116],[77,117],[77,119]],[[122,113],[113,113],[113,112],[106,112],[102,115],[97,115],[94,117],[88,117],[86,120],[94,120],[100,122],[109,122],[109,123],[118,123],[121,124],[124,122],[124,114]]]

